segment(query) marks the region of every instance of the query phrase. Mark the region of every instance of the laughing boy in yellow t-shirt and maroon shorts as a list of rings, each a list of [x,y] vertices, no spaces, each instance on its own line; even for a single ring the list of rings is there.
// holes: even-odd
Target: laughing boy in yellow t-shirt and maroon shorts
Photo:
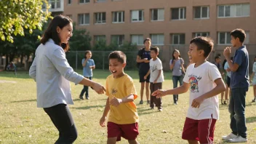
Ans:
[[[111,75],[106,79],[106,95],[103,116],[100,126],[105,127],[108,116],[108,144],[120,141],[121,137],[128,140],[129,144],[138,144],[136,138],[139,135],[137,108],[133,102],[137,98],[137,92],[133,80],[124,73],[127,57],[124,52],[111,52],[108,56],[109,71]]]

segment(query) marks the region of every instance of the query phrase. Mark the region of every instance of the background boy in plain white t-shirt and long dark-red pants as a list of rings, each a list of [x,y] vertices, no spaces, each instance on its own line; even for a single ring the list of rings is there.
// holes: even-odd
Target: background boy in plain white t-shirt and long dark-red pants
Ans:
[[[151,60],[149,61],[150,69],[148,73],[144,76],[144,79],[147,79],[148,75],[151,74],[151,78],[149,81],[151,82],[151,109],[156,105],[159,111],[162,111],[161,108],[161,98],[156,98],[152,96],[152,93],[155,92],[157,89],[161,89],[162,83],[164,81],[164,74],[163,74],[163,65],[161,64],[161,60],[159,57],[159,48],[152,47],[151,48]]]

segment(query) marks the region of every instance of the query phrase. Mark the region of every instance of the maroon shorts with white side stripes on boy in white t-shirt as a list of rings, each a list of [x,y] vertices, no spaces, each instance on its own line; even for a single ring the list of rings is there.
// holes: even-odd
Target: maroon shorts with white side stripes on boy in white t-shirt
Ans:
[[[216,121],[216,119],[195,120],[186,118],[183,139],[198,140],[200,143],[213,143]]]

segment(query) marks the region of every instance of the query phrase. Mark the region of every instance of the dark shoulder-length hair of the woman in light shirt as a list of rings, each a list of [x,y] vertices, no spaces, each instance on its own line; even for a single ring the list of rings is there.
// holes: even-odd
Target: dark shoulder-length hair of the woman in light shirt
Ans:
[[[64,15],[55,16],[49,23],[47,30],[44,31],[44,35],[41,38],[41,44],[45,44],[49,39],[52,39],[53,41],[55,41],[55,44],[63,47],[65,52],[67,52],[69,49],[69,44],[60,44],[60,37],[57,34],[57,27],[62,29],[69,23],[72,23],[71,18]]]

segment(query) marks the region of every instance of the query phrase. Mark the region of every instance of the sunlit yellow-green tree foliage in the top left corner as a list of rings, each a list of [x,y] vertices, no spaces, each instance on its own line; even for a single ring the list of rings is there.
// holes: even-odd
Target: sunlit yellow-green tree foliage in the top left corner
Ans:
[[[45,3],[46,11],[42,5]],[[0,39],[13,43],[13,36],[25,36],[25,29],[29,33],[39,29],[42,23],[50,18],[47,0],[0,0]]]

